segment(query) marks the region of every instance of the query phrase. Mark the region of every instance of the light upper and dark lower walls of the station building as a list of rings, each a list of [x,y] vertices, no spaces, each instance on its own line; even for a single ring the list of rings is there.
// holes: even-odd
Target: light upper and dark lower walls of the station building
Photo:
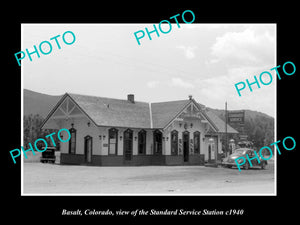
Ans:
[[[127,128],[116,128],[118,129],[118,151],[116,155],[108,154],[108,130],[110,127],[97,127],[90,121],[90,126],[87,125],[89,119],[86,117],[81,118],[73,118],[68,120],[63,120],[60,123],[61,128],[71,128],[71,124],[74,124],[74,128],[76,129],[76,154],[80,155],[76,158],[76,156],[71,156],[69,158],[69,162],[74,164],[80,164],[79,162],[84,161],[84,137],[89,135],[93,138],[93,161],[97,162],[98,165],[120,165],[124,163],[123,160],[123,141],[124,141],[124,131]],[[184,128],[184,122],[187,123],[187,128]],[[193,144],[190,142],[190,157],[189,164],[197,164],[203,165],[203,161],[208,160],[208,139],[209,137],[205,137],[205,123],[201,123],[199,119],[186,119],[184,122],[174,121],[173,124],[168,127],[164,132],[163,136],[165,140],[163,140],[163,155],[168,157],[159,157],[156,159],[151,158],[153,156],[153,130],[146,129],[146,155],[138,154],[138,132],[141,129],[132,129],[133,130],[133,158],[132,162],[129,164],[132,165],[153,165],[153,164],[167,164],[167,165],[181,165],[183,164],[183,151],[178,156],[171,156],[171,131],[178,131],[178,142],[179,139],[182,139],[182,133],[187,130],[190,132],[190,140],[193,140],[193,133],[195,131],[200,132],[200,154],[194,154]],[[181,126],[179,125],[181,123]],[[193,126],[191,127],[191,123]],[[99,137],[101,136],[101,138]],[[104,137],[105,136],[105,137]],[[122,139],[120,138],[122,136]],[[204,141],[203,141],[204,138]],[[218,145],[218,152],[221,153],[221,143],[220,138],[214,138],[215,144],[214,147]],[[179,146],[179,144],[178,144]],[[64,159],[67,160],[67,156],[69,151],[69,142],[61,143],[61,153],[62,153],[62,162]],[[97,156],[102,156],[97,157]],[[105,156],[105,157],[104,157]],[[150,157],[150,158],[149,158]],[[214,159],[214,154],[212,154],[212,159]]]

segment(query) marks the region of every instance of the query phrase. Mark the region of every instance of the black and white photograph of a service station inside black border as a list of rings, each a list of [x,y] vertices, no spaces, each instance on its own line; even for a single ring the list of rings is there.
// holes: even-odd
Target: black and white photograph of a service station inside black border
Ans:
[[[24,195],[276,195],[276,24],[169,25],[22,24]]]

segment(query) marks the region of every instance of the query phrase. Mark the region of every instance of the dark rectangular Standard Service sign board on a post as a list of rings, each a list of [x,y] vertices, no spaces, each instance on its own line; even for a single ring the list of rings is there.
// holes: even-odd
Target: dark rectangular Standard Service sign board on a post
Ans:
[[[231,110],[227,113],[228,124],[239,132],[240,139],[247,139],[244,133],[245,126],[245,110]]]

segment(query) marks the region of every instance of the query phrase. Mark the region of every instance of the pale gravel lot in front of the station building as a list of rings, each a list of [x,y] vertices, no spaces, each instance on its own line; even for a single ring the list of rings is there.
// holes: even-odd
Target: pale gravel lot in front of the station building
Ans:
[[[266,170],[204,166],[96,167],[23,163],[23,194],[275,195]]]

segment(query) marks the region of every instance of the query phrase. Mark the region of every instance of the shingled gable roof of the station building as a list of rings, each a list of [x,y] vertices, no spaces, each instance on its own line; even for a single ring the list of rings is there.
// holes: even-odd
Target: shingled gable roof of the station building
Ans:
[[[169,102],[147,103],[128,100],[96,97],[66,93],[62,99],[69,96],[98,126],[128,127],[128,128],[164,128],[191,101],[179,100]],[[61,99],[61,100],[62,100]],[[62,101],[59,101],[62,102]],[[195,102],[195,101],[194,101]],[[58,103],[58,104],[59,104]],[[196,103],[196,102],[195,102]],[[196,103],[204,110],[204,106]],[[212,111],[203,111],[218,132],[225,132],[225,123]],[[49,118],[50,115],[48,115]],[[228,125],[228,133],[237,133]]]

